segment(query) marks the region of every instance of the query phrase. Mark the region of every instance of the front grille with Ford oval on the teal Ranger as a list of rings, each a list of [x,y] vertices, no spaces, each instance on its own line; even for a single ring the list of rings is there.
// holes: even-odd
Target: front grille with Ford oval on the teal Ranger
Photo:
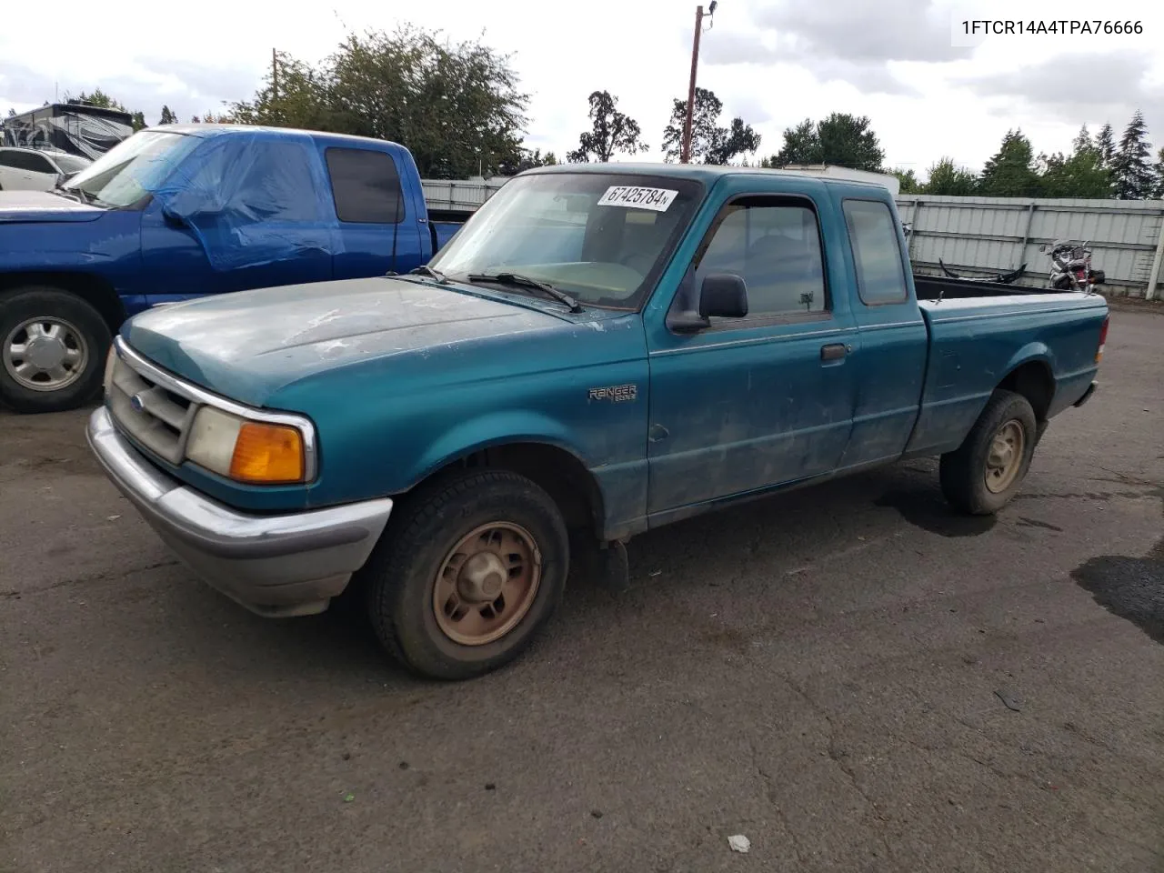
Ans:
[[[106,403],[114,421],[158,457],[177,466],[186,452],[186,435],[198,410],[192,397],[161,384],[151,368],[118,354]]]

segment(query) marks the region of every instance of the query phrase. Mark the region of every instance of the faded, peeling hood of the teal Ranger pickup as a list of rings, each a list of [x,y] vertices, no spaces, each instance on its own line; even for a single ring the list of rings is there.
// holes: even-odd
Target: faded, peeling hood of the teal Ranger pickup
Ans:
[[[601,318],[601,315],[599,315]],[[497,336],[577,327],[573,319],[452,288],[388,277],[285,285],[162,306],[122,336],[211,391],[262,406],[324,371]]]

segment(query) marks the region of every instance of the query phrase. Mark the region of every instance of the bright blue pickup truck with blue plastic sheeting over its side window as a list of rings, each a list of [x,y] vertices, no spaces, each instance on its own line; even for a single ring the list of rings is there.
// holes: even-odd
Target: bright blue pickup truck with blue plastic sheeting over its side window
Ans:
[[[395,143],[142,130],[51,193],[0,191],[0,403],[52,412],[92,399],[112,335],[151,306],[407,272],[457,229],[428,215]]]

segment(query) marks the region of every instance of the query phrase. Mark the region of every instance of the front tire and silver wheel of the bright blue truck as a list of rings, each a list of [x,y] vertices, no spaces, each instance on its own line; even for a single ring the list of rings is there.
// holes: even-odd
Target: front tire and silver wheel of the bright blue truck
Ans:
[[[113,338],[76,294],[28,285],[0,296],[0,403],[63,412],[94,399]]]

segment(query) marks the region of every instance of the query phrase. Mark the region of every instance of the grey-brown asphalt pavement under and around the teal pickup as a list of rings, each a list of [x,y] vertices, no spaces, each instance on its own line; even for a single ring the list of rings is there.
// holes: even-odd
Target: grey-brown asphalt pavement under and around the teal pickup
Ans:
[[[1100,378],[996,519],[923,461],[683,523],[460,684],[0,413],[0,871],[1164,871],[1164,314]]]

